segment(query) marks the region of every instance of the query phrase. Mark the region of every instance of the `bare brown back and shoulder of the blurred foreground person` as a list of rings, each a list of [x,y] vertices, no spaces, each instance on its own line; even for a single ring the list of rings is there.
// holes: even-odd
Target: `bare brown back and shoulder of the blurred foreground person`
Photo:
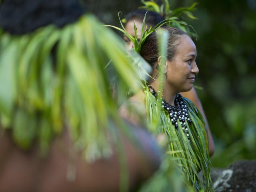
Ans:
[[[121,132],[119,137],[129,172],[129,191],[134,191],[158,168],[160,150],[146,130],[131,126],[130,133],[138,142]],[[82,152],[74,151],[69,135],[64,131],[52,141],[49,153],[40,157],[38,148],[22,151],[4,134],[0,140],[0,191],[118,191],[118,147],[112,145],[109,158],[87,163]]]

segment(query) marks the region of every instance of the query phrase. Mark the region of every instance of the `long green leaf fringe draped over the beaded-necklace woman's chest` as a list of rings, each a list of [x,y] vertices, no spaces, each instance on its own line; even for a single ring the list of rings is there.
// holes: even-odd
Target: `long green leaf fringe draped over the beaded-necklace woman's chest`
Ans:
[[[149,129],[156,135],[160,133],[166,135],[168,139],[166,153],[174,157],[172,162],[175,162],[183,170],[185,183],[193,186],[194,190],[211,191],[207,130],[200,112],[190,100],[184,98],[192,119],[192,124],[187,124],[191,136],[190,144],[182,131],[180,122],[178,121],[176,129],[170,121],[169,114],[162,109],[150,90],[145,87],[144,92]],[[203,174],[203,181],[198,176],[200,171]]]

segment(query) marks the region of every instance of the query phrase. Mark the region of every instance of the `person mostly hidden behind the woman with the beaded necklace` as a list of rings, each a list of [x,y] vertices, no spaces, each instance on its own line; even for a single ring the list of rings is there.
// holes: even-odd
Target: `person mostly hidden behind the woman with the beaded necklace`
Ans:
[[[135,10],[135,11],[130,12],[126,16],[125,29],[130,35],[134,36],[135,35],[134,34],[134,23],[135,23],[136,27],[137,27],[137,39],[138,40],[140,40],[141,31],[142,31],[142,21],[143,21],[145,14],[146,14],[145,22],[146,22],[147,26],[153,27],[156,24],[158,24],[164,20],[164,18],[162,18],[162,16],[160,16],[160,14],[158,14],[157,12],[154,12],[154,11]],[[124,40],[126,41],[127,49],[131,49],[134,46],[133,43],[129,40],[129,38],[127,38],[125,35],[124,35]],[[182,96],[190,99],[196,105],[196,107],[200,110],[202,115],[204,116],[204,120],[205,120],[206,126],[208,128],[209,152],[210,152],[210,156],[212,156],[214,154],[214,141],[212,139],[212,134],[210,131],[210,127],[209,127],[206,115],[204,113],[204,109],[202,107],[200,99],[198,98],[198,95],[196,93],[194,86],[189,91],[182,92],[181,94],[182,94]]]

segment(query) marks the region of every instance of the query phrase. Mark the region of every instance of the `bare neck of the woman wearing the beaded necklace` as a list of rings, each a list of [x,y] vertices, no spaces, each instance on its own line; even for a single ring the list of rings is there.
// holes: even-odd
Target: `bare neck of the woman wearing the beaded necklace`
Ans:
[[[160,80],[155,80],[151,86],[158,92],[159,89],[159,85],[160,85]],[[174,106],[174,99],[176,96],[176,91],[174,91],[170,86],[168,86],[167,84],[164,84],[164,90],[163,90],[163,96],[164,96],[164,100],[166,100],[166,102],[172,104]]]

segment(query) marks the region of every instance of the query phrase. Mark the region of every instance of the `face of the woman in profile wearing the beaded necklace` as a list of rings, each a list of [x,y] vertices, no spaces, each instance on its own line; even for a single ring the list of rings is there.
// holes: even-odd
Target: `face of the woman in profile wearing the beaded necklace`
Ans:
[[[167,60],[166,85],[169,84],[175,92],[186,92],[192,89],[195,75],[199,72],[196,66],[196,45],[187,35],[182,35],[177,43],[174,58]]]

